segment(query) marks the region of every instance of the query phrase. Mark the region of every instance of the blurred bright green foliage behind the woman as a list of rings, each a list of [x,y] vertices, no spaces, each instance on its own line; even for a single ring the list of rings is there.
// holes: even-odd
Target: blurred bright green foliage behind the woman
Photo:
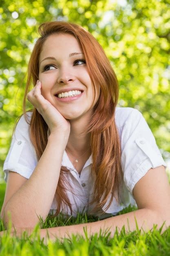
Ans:
[[[22,98],[38,26],[82,25],[104,48],[119,81],[121,107],[142,112],[163,158],[170,158],[170,4],[163,0],[1,0],[0,173]],[[28,109],[32,108],[28,103]]]

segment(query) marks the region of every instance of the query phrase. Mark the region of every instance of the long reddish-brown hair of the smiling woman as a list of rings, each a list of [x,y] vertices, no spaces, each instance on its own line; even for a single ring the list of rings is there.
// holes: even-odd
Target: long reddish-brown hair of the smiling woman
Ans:
[[[36,108],[31,110],[32,116],[29,122],[26,112],[30,110],[26,111],[26,96],[31,86],[35,86],[38,79],[38,61],[46,39],[51,34],[57,33],[67,33],[75,36],[83,49],[86,67],[94,90],[95,82],[97,82],[97,85],[101,89],[99,99],[93,107],[91,119],[86,131],[84,131],[85,133],[91,133],[91,152],[93,159],[91,177],[94,181],[94,190],[93,200],[89,204],[93,205],[91,214],[95,215],[97,213],[99,216],[103,213],[101,208],[104,207],[109,197],[110,201],[106,209],[104,209],[105,211],[110,207],[113,197],[115,197],[118,203],[120,202],[120,189],[123,180],[121,145],[115,124],[115,108],[119,97],[117,77],[101,45],[83,27],[70,22],[54,21],[45,22],[40,25],[38,32],[40,38],[36,41],[29,60],[28,78],[23,99],[23,115],[29,124],[30,139],[35,148],[38,161],[46,148],[49,130],[42,115],[40,115]],[[53,216],[57,216],[61,211],[61,207],[64,209],[66,206],[70,208],[72,214],[71,202],[68,199],[65,186],[67,179],[66,175],[64,175],[64,173],[68,173],[69,171],[66,166],[61,166],[60,177],[55,192],[57,209]],[[68,185],[71,188],[71,184]]]

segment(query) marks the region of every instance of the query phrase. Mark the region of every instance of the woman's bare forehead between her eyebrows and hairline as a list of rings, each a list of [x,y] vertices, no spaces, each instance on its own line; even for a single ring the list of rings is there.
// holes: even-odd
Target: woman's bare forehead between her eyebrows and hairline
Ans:
[[[54,56],[54,54],[67,54],[76,51],[82,51],[82,47],[71,34],[53,34],[49,36],[42,47],[40,53],[40,59],[48,56]]]

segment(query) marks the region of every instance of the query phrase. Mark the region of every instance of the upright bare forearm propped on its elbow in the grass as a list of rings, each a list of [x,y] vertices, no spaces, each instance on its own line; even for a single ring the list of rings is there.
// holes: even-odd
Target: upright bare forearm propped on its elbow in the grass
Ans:
[[[4,222],[9,221],[7,211],[11,212],[11,220],[16,227],[33,227],[39,222],[40,216],[45,220],[57,188],[65,147],[64,135],[50,135],[31,177],[7,203]]]

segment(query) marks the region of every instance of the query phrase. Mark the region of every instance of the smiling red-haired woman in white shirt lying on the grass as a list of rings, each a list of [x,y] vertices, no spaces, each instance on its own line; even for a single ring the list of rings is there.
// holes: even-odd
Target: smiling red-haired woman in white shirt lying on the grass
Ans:
[[[144,230],[163,221],[169,225],[166,163],[142,114],[116,107],[118,81],[102,47],[69,22],[46,22],[39,33],[29,61],[24,115],[4,162],[5,227],[7,211],[14,227],[26,229],[53,209],[54,216],[99,216],[85,225],[89,235],[104,227],[111,235],[116,226],[128,229],[127,218],[133,231],[134,217]],[[33,111],[26,112],[26,99]],[[113,217],[130,203],[138,210]],[[83,227],[48,231],[51,238],[64,238],[83,235]],[[44,236],[46,230],[41,231]]]

